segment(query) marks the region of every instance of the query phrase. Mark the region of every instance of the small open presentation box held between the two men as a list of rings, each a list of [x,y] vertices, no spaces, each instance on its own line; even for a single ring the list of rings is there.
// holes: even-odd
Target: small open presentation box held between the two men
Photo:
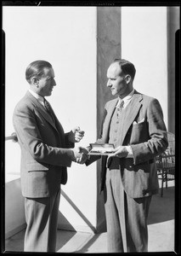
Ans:
[[[91,150],[88,154],[93,155],[109,155],[113,153],[114,150],[114,144],[99,144],[99,143],[90,143]]]

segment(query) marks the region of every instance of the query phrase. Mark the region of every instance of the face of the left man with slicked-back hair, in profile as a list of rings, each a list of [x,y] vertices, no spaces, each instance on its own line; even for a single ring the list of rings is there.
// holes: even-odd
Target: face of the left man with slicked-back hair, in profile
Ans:
[[[54,80],[54,69],[45,67],[42,79],[38,80],[37,93],[43,97],[50,96],[55,85],[56,83]]]

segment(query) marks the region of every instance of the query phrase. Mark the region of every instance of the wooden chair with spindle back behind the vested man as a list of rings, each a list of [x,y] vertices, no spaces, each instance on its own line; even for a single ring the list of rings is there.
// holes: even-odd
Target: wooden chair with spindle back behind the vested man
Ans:
[[[175,179],[175,135],[167,132],[168,147],[162,154],[156,156],[158,178],[161,178],[161,196],[163,196],[163,185],[167,181]]]

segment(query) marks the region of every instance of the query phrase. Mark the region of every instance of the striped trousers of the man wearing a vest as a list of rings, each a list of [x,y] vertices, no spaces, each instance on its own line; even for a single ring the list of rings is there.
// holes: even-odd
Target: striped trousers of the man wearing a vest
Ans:
[[[107,169],[104,194],[108,253],[147,252],[151,196],[129,197],[119,169]]]

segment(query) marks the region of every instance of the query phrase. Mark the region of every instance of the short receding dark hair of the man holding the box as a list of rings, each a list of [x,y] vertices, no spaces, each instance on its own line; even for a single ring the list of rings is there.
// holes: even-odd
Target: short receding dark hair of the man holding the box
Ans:
[[[117,62],[119,66],[122,68],[122,73],[129,74],[132,79],[134,79],[136,69],[130,61],[124,60],[124,59],[115,59],[112,63]]]

